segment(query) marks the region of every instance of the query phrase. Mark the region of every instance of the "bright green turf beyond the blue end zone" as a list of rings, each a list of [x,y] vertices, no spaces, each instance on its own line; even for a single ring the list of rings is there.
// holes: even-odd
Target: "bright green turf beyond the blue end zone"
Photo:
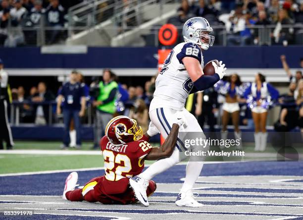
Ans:
[[[98,154],[99,149],[91,150],[91,147],[93,146],[91,142],[84,142],[81,150],[76,150],[75,148],[66,150],[79,151],[79,154],[84,153],[83,155],[62,155],[60,152],[60,145],[61,142],[16,141],[14,150],[56,150],[56,155],[44,154],[44,152],[41,151],[33,154],[0,153],[0,174],[103,166],[103,158],[101,154]],[[158,146],[158,144],[153,144],[153,146]],[[65,152],[65,150],[61,151]],[[87,153],[84,151],[90,151],[91,153],[95,152],[96,155],[85,155]],[[245,146],[245,152],[253,154],[253,145]],[[14,151],[11,151],[9,153],[14,153]],[[273,148],[267,148],[266,152],[264,153],[272,154],[273,157],[276,157],[277,155],[276,150]],[[302,152],[300,153],[302,154]],[[218,160],[216,158],[210,158],[206,161],[216,160],[220,161],[220,159]],[[266,160],[266,158],[261,157],[260,160]],[[145,162],[145,164],[152,163],[152,161]]]

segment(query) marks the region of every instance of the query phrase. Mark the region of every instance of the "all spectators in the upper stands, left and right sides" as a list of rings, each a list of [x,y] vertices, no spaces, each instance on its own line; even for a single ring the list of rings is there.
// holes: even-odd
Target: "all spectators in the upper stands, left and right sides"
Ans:
[[[39,29],[43,15],[45,15],[43,26],[52,28],[46,32],[46,43],[54,44],[64,40],[66,32],[62,31],[62,28],[67,25],[67,9],[81,1],[0,0],[0,46],[36,45],[37,31],[26,28]],[[131,13],[129,8],[138,2],[137,0],[122,0],[124,13],[126,15]],[[100,7],[104,5],[98,5],[98,8]],[[108,13],[112,14],[112,11]],[[167,23],[182,26],[188,18],[201,16],[206,18],[212,26],[225,25],[228,33],[227,45],[259,44],[261,40],[259,35],[264,36],[266,33],[265,29],[253,28],[257,25],[264,27],[274,25],[274,28],[269,29],[270,44],[284,46],[302,44],[302,28],[293,27],[293,24],[303,23],[303,2],[299,0],[181,0],[177,14],[169,18]],[[97,22],[105,19],[100,16],[97,16]],[[282,27],[281,25],[290,26]],[[117,26],[136,26],[136,18],[121,20]],[[214,35],[219,37],[219,31],[215,29]],[[261,40],[260,44],[269,43]]]

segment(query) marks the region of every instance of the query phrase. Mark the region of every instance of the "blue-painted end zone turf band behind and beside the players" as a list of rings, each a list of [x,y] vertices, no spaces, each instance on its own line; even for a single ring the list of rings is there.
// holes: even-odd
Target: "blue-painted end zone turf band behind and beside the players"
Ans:
[[[2,176],[0,177],[0,195],[61,195],[65,178],[69,172]],[[103,170],[79,171],[80,185],[84,185],[91,178],[104,174]],[[303,176],[303,162],[247,162],[206,164],[202,169],[202,176],[228,175],[301,175]],[[185,176],[185,165],[175,165],[167,171],[155,176],[158,183],[182,183],[180,178]],[[224,188],[220,188],[223,190]],[[226,188],[225,188],[226,189]],[[207,189],[211,190],[211,189]],[[215,190],[213,188],[213,190]],[[273,189],[243,189],[230,188],[226,191],[244,192],[274,192]],[[278,190],[279,192],[282,192]],[[277,192],[278,192],[277,191]],[[286,190],[287,193],[302,193],[302,190]],[[235,196],[235,195],[233,195]],[[247,195],[249,196],[249,195]],[[253,195],[255,197],[255,195]],[[277,196],[275,196],[277,198]]]

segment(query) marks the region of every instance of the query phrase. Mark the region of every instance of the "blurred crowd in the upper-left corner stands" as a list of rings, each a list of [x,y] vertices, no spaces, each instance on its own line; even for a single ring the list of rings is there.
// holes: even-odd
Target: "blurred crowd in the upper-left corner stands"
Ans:
[[[23,28],[53,28],[47,31],[47,43],[53,44],[64,37],[60,29],[66,22],[67,9],[82,0],[0,0],[0,46],[36,45],[37,32]]]

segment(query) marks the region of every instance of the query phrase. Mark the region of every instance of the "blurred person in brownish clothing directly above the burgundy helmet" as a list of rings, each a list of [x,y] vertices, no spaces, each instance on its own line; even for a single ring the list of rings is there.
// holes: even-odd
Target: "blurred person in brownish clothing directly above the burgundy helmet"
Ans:
[[[130,118],[137,120],[138,124],[142,127],[143,133],[149,128],[149,110],[142,99],[137,99],[134,108],[130,110]]]

